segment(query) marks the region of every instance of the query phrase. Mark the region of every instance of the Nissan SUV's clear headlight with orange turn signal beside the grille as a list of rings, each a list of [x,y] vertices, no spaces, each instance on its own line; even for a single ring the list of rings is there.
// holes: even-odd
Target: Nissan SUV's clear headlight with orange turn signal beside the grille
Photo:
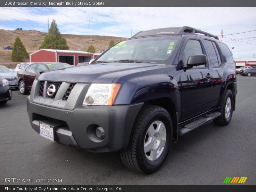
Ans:
[[[111,106],[116,99],[121,84],[91,84],[83,105],[108,105]]]

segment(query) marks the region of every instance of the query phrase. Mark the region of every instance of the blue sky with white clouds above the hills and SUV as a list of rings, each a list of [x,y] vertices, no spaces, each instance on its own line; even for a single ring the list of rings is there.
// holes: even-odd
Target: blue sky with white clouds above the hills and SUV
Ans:
[[[0,29],[47,32],[48,17],[61,33],[130,37],[153,28],[191,26],[214,35],[256,30],[255,7],[1,7]],[[254,38],[255,37],[255,38]],[[232,40],[231,40],[232,38]],[[235,40],[234,40],[235,39]],[[256,31],[226,36],[233,56],[256,57]]]

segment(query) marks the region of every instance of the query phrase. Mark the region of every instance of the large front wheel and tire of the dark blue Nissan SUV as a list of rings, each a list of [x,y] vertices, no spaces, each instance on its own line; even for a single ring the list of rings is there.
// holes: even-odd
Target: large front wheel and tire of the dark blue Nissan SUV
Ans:
[[[127,149],[120,153],[124,165],[141,173],[156,172],[172,146],[173,127],[168,111],[147,105],[140,110]]]

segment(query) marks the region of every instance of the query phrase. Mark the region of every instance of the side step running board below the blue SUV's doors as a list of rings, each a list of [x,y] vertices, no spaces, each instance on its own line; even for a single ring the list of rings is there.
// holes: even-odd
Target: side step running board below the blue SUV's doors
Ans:
[[[179,129],[179,135],[184,135],[184,134],[196,129],[199,126],[208,123],[209,121],[211,121],[212,119],[215,119],[218,116],[220,116],[220,112],[213,112],[213,113],[207,114],[205,116],[199,117],[199,118],[195,119],[194,121],[192,121],[191,123],[181,126]]]

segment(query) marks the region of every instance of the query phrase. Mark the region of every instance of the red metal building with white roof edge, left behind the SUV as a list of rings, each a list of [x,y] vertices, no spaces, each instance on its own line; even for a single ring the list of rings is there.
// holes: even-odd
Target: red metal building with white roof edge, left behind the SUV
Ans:
[[[40,49],[30,54],[30,62],[63,62],[70,65],[89,62],[93,53],[58,49]]]

